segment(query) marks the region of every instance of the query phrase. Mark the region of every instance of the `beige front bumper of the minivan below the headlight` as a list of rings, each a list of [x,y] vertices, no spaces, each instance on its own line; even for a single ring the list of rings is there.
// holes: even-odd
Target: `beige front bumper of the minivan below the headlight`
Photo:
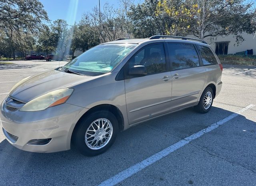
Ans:
[[[30,152],[58,152],[70,149],[74,126],[88,109],[68,103],[44,111],[8,111],[0,106],[3,133],[13,146]],[[43,144],[31,141],[49,139]]]

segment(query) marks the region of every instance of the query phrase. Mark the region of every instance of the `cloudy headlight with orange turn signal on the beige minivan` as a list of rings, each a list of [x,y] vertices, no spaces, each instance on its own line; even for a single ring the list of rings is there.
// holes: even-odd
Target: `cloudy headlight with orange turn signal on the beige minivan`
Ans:
[[[70,97],[73,89],[58,89],[32,99],[20,108],[20,111],[42,111],[48,107],[53,107],[65,103]]]

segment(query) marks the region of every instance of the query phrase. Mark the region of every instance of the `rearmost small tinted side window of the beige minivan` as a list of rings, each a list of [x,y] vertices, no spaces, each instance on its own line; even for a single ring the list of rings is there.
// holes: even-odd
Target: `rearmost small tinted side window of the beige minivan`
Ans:
[[[201,55],[204,65],[218,64],[218,61],[217,61],[215,55],[212,53],[212,50],[209,47],[197,45],[197,48],[200,52],[200,55]]]

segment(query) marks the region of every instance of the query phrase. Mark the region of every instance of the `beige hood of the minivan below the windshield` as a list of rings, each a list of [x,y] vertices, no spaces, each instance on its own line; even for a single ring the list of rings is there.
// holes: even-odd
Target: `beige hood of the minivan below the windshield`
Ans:
[[[93,78],[95,77],[66,73],[58,70],[44,71],[17,83],[9,96],[27,103],[50,91],[71,87]]]

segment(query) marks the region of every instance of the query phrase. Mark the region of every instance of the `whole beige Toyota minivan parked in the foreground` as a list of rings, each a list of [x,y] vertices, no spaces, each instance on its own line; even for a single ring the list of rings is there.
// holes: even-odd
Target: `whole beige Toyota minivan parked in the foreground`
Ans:
[[[222,69],[202,40],[152,36],[100,44],[16,84],[0,106],[2,130],[22,150],[57,152],[73,142],[94,156],[138,123],[189,107],[210,111]]]

